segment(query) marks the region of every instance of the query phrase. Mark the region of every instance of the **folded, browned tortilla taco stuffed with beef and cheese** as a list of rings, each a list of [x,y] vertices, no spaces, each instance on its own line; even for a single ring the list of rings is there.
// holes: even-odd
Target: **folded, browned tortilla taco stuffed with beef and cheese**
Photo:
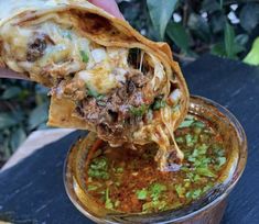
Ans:
[[[188,91],[168,44],[85,0],[0,0],[0,66],[51,88],[48,125],[114,146],[155,142],[161,170],[181,164],[173,132]]]

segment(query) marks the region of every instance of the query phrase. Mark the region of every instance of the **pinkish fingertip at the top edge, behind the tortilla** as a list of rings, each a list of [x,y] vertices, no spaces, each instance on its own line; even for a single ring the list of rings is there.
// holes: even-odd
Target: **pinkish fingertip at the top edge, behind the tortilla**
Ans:
[[[96,7],[104,9],[116,18],[123,20],[123,15],[121,14],[115,0],[89,0],[89,2],[91,2]]]

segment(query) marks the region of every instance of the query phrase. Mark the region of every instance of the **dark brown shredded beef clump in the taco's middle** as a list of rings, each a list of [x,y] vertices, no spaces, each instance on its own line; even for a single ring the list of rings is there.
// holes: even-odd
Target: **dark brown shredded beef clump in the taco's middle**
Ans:
[[[105,139],[128,138],[137,130],[142,116],[131,113],[130,108],[147,103],[144,88],[149,77],[139,70],[126,75],[126,82],[102,98],[87,96],[77,107],[79,116],[96,126]]]

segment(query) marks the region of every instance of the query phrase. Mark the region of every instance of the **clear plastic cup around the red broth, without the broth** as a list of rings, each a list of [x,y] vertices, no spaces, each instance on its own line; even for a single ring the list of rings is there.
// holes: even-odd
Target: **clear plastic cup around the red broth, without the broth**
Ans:
[[[72,203],[96,223],[219,223],[226,209],[226,199],[241,177],[247,161],[247,139],[240,123],[224,107],[202,97],[191,98],[188,114],[194,114],[213,123],[224,136],[225,148],[230,152],[224,181],[209,193],[179,210],[168,210],[151,214],[115,213],[98,206],[87,194],[85,160],[96,135],[85,134],[76,141],[67,154],[64,166],[64,183]]]

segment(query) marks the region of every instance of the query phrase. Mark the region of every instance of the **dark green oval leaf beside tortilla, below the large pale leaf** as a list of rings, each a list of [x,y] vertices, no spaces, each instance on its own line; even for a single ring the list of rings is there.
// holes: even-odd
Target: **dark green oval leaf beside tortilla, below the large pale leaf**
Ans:
[[[170,22],[166,34],[181,49],[187,52],[190,36],[181,23]]]

